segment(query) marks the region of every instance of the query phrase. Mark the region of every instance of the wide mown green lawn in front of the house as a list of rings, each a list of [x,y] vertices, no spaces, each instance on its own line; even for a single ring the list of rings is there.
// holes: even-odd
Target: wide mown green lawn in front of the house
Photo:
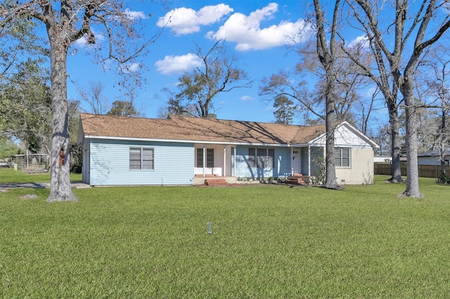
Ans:
[[[3,171],[1,171],[3,174]],[[446,298],[449,187],[96,187],[0,194],[4,298]],[[23,200],[23,194],[38,199]],[[207,234],[212,222],[212,234]]]

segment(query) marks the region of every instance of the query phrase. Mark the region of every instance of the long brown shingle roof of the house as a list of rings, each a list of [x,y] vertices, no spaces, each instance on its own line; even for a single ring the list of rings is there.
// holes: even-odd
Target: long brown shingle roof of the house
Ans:
[[[254,121],[177,117],[145,119],[81,114],[85,135],[112,138],[243,142],[256,144],[302,144],[325,132],[325,125],[294,126]]]

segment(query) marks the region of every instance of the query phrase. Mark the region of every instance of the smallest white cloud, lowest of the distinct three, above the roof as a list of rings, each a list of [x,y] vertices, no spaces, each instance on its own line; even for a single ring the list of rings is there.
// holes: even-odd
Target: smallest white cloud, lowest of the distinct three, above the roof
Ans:
[[[167,55],[163,60],[155,62],[155,65],[162,74],[183,74],[195,67],[201,67],[202,61],[197,55],[188,53],[181,56]]]

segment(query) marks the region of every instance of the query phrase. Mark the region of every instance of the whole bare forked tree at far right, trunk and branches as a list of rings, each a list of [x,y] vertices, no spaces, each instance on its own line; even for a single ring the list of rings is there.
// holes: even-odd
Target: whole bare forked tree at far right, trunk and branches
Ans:
[[[351,5],[351,1],[348,1]],[[426,48],[434,44],[450,27],[450,16],[445,11],[448,10],[448,1],[425,0],[418,5],[418,9],[413,12],[408,0],[396,0],[394,8],[383,9],[387,2],[356,0],[362,13],[354,10],[356,18],[364,25],[368,39],[373,43],[373,47],[378,50],[378,55],[384,55],[390,65],[390,75],[392,76],[394,91],[392,95],[401,92],[404,98],[406,114],[406,190],[403,196],[422,197],[418,184],[418,151],[417,151],[417,105],[414,95],[413,76],[418,67],[418,63]],[[380,6],[380,3],[382,4]],[[394,27],[394,51],[390,51],[391,38],[388,32],[383,32],[380,26],[380,11],[384,15],[392,15]],[[391,12],[392,14],[388,14]],[[411,20],[411,22],[407,22]],[[432,29],[428,29],[432,22]],[[390,26],[391,26],[390,25]],[[409,25],[409,28],[406,26]],[[389,26],[389,27],[390,27]],[[387,30],[389,29],[386,28]],[[409,39],[414,39],[412,42]],[[389,43],[388,43],[389,41]],[[410,45],[410,47],[407,47]],[[409,52],[406,53],[406,48]],[[409,55],[409,56],[407,56]],[[402,65],[402,62],[406,65]],[[383,63],[381,58],[378,63]],[[385,69],[385,68],[384,68]],[[379,68],[381,71],[382,69]],[[390,107],[388,107],[390,109]]]

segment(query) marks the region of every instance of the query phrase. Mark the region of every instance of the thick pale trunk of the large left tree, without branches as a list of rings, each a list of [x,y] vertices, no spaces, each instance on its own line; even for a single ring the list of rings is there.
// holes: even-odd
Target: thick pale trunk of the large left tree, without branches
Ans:
[[[49,30],[51,42],[51,201],[78,201],[70,186],[70,147],[67,100],[67,47],[64,40]]]

